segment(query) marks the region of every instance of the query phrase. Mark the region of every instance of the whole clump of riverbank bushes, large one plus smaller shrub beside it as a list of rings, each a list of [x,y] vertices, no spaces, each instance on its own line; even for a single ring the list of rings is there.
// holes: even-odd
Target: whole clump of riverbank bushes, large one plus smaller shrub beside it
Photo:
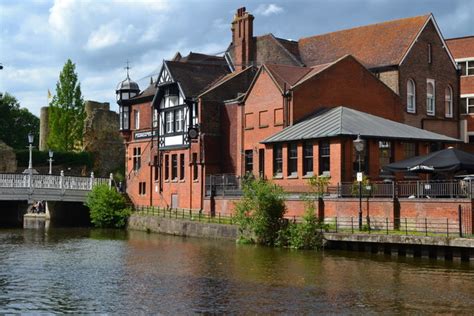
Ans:
[[[315,190],[324,187],[322,181],[310,179]],[[311,183],[313,182],[313,184]],[[256,243],[293,249],[318,249],[322,246],[322,223],[316,216],[314,199],[308,195],[302,223],[288,221],[283,189],[264,179],[248,179],[242,184],[243,196],[236,203],[235,221],[239,225],[239,243]]]

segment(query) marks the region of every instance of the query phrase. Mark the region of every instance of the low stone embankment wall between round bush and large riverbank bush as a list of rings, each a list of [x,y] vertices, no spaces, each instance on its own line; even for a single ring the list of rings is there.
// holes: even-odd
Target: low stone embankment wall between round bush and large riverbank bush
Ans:
[[[184,237],[204,237],[218,239],[237,239],[237,226],[193,222],[133,214],[128,220],[129,230],[148,231]]]

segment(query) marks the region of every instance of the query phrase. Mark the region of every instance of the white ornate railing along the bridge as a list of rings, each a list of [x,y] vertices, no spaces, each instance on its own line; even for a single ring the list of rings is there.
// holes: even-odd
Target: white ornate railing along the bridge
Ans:
[[[39,175],[39,174],[0,174],[0,188],[31,188],[31,189],[57,189],[57,190],[82,190],[90,191],[97,184],[112,186],[112,175],[107,178],[69,177]]]

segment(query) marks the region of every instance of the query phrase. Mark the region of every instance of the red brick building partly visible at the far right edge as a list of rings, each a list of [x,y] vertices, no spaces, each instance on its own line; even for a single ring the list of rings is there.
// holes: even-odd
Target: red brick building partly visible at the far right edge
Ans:
[[[461,135],[474,144],[474,36],[446,40],[461,73]]]

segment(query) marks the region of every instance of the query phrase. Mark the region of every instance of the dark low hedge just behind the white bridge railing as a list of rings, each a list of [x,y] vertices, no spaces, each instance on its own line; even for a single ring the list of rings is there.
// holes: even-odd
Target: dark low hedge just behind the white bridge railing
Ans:
[[[28,149],[16,150],[16,159],[19,166],[27,166],[29,160]],[[33,150],[33,166],[47,166],[49,159],[48,151]],[[92,168],[93,157],[89,152],[54,152],[54,165],[63,165],[67,167]]]

